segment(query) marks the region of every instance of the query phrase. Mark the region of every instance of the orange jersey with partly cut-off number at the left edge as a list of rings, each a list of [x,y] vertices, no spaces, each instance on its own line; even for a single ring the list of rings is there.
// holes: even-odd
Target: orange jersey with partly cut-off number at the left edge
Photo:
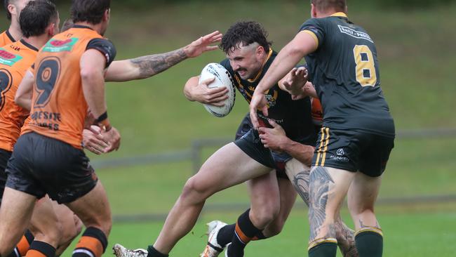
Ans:
[[[20,40],[0,48],[0,149],[12,152],[29,111],[14,103],[25,72],[32,66],[38,49]]]

